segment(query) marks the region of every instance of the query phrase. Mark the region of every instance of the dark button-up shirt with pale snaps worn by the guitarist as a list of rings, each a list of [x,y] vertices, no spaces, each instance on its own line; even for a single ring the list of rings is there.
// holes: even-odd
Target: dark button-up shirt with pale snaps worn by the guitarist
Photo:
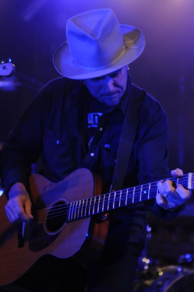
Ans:
[[[103,115],[90,147],[88,104],[92,103],[95,107],[98,102],[77,80],[62,77],[44,86],[0,151],[0,179],[5,193],[16,182],[22,182],[28,187],[32,166],[34,169],[40,161],[40,173],[52,182],[62,180],[77,168],[87,167],[102,177],[103,191],[107,191],[112,183],[131,86],[129,76],[127,91],[117,107],[107,110],[101,105]],[[155,182],[169,176],[167,117],[151,95],[143,90],[142,94],[136,138],[124,179],[126,187]],[[167,219],[175,216],[175,212],[167,212],[157,206],[155,200],[122,207],[111,221],[108,242],[143,242],[146,237],[147,207]]]

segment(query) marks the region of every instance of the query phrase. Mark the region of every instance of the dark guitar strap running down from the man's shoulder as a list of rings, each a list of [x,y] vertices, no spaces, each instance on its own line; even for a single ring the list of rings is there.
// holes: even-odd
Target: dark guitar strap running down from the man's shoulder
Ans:
[[[127,104],[118,146],[116,165],[110,192],[112,189],[119,190],[122,188],[131,150],[136,136],[136,129],[138,125],[138,109],[143,100],[143,97],[145,96],[145,91],[132,84],[129,96],[130,97]]]

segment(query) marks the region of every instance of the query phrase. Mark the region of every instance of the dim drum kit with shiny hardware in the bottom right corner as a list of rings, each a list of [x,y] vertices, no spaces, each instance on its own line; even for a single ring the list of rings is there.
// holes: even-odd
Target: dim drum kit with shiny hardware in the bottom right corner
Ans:
[[[151,227],[147,225],[147,239]],[[146,248],[139,258],[133,292],[194,292],[194,255],[179,256],[177,265],[159,266],[147,257]]]

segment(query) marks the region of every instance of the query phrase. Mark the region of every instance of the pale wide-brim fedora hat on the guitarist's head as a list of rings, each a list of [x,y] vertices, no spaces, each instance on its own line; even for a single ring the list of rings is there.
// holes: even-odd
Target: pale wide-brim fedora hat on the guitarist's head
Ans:
[[[145,47],[143,34],[134,26],[119,24],[111,9],[95,9],[69,18],[67,40],[53,55],[61,75],[88,79],[130,64]]]

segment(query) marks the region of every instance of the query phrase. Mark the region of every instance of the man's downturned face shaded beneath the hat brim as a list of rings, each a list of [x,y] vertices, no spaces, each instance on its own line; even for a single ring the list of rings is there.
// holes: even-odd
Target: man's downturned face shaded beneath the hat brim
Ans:
[[[107,75],[85,79],[83,83],[90,93],[108,106],[119,104],[127,86],[127,66]]]

